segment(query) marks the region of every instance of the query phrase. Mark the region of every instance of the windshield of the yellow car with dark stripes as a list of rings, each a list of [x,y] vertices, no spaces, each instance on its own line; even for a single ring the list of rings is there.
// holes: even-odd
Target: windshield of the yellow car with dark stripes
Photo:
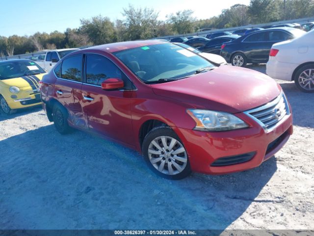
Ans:
[[[17,60],[0,63],[0,80],[12,79],[26,75],[46,73],[34,61]]]

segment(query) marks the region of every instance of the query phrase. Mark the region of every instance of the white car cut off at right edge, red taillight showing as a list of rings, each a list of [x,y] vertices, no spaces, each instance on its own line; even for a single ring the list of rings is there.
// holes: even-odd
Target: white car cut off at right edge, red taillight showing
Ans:
[[[294,81],[303,92],[314,92],[314,30],[275,43],[269,53],[266,73],[274,79]]]

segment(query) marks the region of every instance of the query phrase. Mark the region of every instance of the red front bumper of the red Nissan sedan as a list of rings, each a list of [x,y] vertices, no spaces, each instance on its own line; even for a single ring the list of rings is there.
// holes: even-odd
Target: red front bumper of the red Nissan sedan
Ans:
[[[238,117],[250,124],[250,128],[226,132],[202,132],[177,128],[176,132],[186,148],[193,172],[227,174],[258,167],[285,145],[293,131],[291,114],[268,133],[246,115],[239,114]],[[252,152],[253,157],[246,162],[212,166],[222,157],[241,156]]]

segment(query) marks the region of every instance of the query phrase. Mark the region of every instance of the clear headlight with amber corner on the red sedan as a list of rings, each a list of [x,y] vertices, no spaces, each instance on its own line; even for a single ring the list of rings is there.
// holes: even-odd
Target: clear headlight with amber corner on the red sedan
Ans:
[[[196,130],[224,131],[249,127],[242,119],[230,113],[197,109],[188,109],[186,112],[195,120]]]

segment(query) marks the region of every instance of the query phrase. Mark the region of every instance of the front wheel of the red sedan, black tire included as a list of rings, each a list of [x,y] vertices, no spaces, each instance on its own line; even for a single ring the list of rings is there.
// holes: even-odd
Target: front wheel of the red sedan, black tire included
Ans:
[[[191,173],[187,152],[178,135],[168,126],[153,128],[144,138],[142,152],[146,164],[158,176],[182,179]]]

